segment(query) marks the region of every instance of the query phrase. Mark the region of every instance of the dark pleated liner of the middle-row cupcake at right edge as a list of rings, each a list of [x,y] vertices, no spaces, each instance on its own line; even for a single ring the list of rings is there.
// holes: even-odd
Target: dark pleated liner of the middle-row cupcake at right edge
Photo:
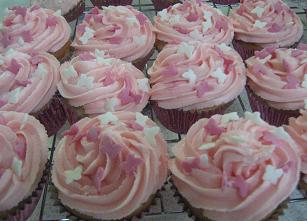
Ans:
[[[254,112],[260,112],[261,118],[270,125],[280,127],[288,124],[289,118],[298,117],[299,110],[280,110],[270,107],[266,101],[257,96],[248,86],[246,87],[249,103]]]

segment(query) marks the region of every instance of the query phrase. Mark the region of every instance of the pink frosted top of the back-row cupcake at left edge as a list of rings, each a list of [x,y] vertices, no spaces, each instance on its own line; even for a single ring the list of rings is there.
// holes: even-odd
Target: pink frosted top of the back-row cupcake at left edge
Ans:
[[[0,51],[57,52],[70,39],[70,27],[61,13],[35,5],[13,7],[0,29]]]

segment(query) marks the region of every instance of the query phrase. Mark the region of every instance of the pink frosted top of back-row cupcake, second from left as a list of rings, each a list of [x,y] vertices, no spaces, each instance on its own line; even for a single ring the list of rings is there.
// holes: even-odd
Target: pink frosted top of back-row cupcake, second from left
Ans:
[[[78,25],[72,46],[79,52],[99,49],[134,61],[151,52],[155,42],[152,29],[150,20],[132,6],[95,7]]]

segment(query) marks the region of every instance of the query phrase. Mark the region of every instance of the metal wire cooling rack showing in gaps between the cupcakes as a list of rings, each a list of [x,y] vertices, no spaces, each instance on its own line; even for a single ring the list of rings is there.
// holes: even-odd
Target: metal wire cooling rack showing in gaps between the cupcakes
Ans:
[[[136,3],[135,3],[136,2]],[[134,4],[132,4],[132,6],[134,6],[136,9],[138,9],[139,11],[142,11],[144,12],[149,18],[152,18],[154,15],[157,14],[157,11],[155,11],[154,9],[154,6],[153,4],[150,2],[150,3],[143,3],[144,0],[136,0],[134,1]],[[148,1],[149,2],[149,1]],[[238,7],[238,4],[232,4],[232,5],[218,5],[218,4],[214,4],[210,1],[206,1],[208,4],[212,5],[213,7],[215,8],[218,8],[218,9],[223,9],[223,12],[226,13],[227,15],[229,14],[230,10],[232,8],[235,8],[235,7]],[[293,11],[295,11],[296,14],[298,15],[304,15],[305,12],[304,12],[304,9],[302,8],[299,8],[297,5],[290,5],[291,9]],[[87,11],[90,11],[92,9],[92,7],[86,7],[86,10],[85,10],[85,13]],[[73,24],[73,34],[72,34],[72,39],[74,39],[75,37],[75,33],[76,33],[76,27],[79,23],[82,22],[84,18],[84,14],[82,14]],[[306,18],[305,18],[306,19]],[[306,32],[306,26],[305,25],[305,32]],[[68,60],[69,57],[66,59]],[[145,70],[144,70],[144,74],[146,76],[148,76],[147,74],[147,70],[148,68],[152,65],[152,63],[155,61],[156,59],[156,53],[153,54],[153,56],[150,58],[150,60],[148,61],[148,63],[146,64],[146,67],[145,67]],[[240,111],[241,112],[245,112],[247,110],[249,110],[249,107],[248,105],[245,104],[245,102],[243,102],[243,98],[242,98],[242,95],[238,96],[237,98],[237,103],[239,104],[239,108],[241,109]],[[152,110],[152,107],[150,104],[148,104],[145,108],[145,110],[143,111],[144,114],[148,115],[150,118],[152,118],[154,121],[157,122],[154,114],[153,114],[153,110]],[[55,147],[56,147],[56,141],[57,141],[57,137],[60,136],[59,134],[55,134],[54,137],[53,137],[53,141],[52,141],[52,145],[51,147],[49,148],[50,150],[50,156],[49,156],[49,166],[48,168],[51,168],[52,167],[52,162],[53,162],[53,154],[54,154],[54,150],[55,150]],[[173,139],[168,139],[167,140],[167,143],[168,144],[174,144],[174,143],[177,143],[178,141],[180,141],[182,138],[182,135],[181,134],[177,134],[176,135],[176,138],[173,138]],[[66,220],[76,220],[75,217],[71,217],[70,215],[67,215],[66,213],[62,213],[62,217],[63,218],[60,218],[60,219],[44,219],[45,217],[45,213],[46,213],[46,210],[48,209],[46,207],[46,202],[47,200],[52,200],[52,199],[48,199],[47,195],[48,195],[48,192],[49,192],[49,189],[50,187],[52,187],[52,183],[51,183],[51,176],[50,176],[50,173],[49,173],[49,176],[48,176],[48,179],[47,179],[47,182],[45,184],[45,188],[44,188],[44,192],[43,192],[43,195],[42,195],[42,199],[41,199],[41,204],[40,204],[40,210],[39,210],[39,220],[41,221],[54,221],[54,220],[61,220],[61,221],[66,221]],[[162,194],[159,194],[159,197],[157,197],[157,205],[159,208],[157,209],[158,212],[154,211],[154,212],[146,212],[144,214],[144,217],[157,217],[156,220],[159,220],[159,216],[161,215],[175,215],[175,214],[182,214],[182,215],[185,215],[185,212],[183,211],[183,209],[174,209],[174,210],[167,210],[166,209],[166,206],[165,205],[165,201],[163,200],[163,192],[168,192],[168,194],[171,194],[173,195],[173,193],[170,193],[170,184],[166,184],[165,185],[165,188],[164,188],[164,191],[162,191]],[[175,199],[174,199],[175,200]],[[297,197],[297,198],[291,198],[290,199],[290,203],[297,203],[297,202],[302,202],[302,201],[307,201],[307,193],[304,192],[301,194],[300,197]],[[177,202],[176,200],[174,202]],[[187,218],[188,219],[188,218]],[[80,220],[80,219],[77,219],[77,220]]]

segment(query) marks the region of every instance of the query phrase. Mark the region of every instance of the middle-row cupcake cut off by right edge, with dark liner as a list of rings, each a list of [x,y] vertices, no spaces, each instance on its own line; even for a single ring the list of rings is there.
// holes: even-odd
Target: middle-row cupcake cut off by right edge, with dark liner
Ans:
[[[304,107],[307,51],[301,49],[269,47],[246,60],[251,108],[272,125],[288,124],[288,119],[297,117]]]

